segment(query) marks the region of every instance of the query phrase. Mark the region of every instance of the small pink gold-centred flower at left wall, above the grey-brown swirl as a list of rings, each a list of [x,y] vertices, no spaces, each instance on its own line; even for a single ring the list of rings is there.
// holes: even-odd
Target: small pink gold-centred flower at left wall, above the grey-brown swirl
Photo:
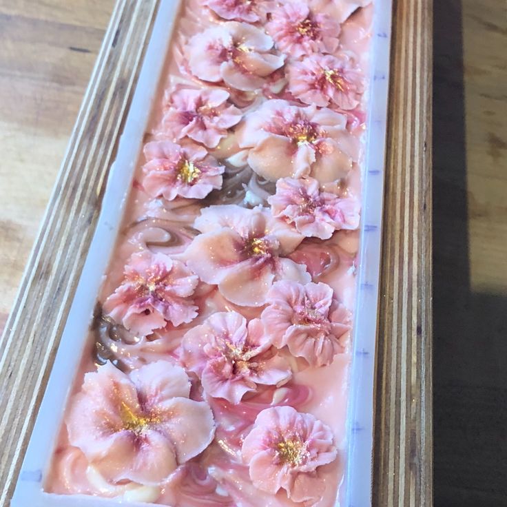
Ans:
[[[143,165],[143,187],[149,196],[202,199],[211,190],[222,188],[225,167],[203,146],[152,141],[145,145],[144,154],[147,163]]]

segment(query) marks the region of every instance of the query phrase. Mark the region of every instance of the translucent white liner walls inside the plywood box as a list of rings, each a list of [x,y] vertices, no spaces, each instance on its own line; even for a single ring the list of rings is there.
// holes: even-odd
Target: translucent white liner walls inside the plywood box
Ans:
[[[103,252],[112,251],[121,225],[136,161],[143,145],[143,134],[165,65],[165,58],[161,58],[161,54],[167,54],[169,49],[179,3],[178,0],[161,0],[158,7],[152,37],[118,146],[118,154],[107,181],[103,209],[19,473],[11,501],[12,507],[25,507],[30,504],[38,507],[125,505],[124,502],[114,499],[89,495],[45,493],[42,484],[50,466],[54,442],[59,433],[74,375],[81,361],[96,295],[103,281],[103,273],[110,262],[108,256],[103,256]],[[353,360],[349,380],[346,487],[340,488],[340,499],[337,501],[337,506],[342,507],[371,505],[373,376],[379,296],[391,9],[391,0],[378,0],[373,15],[367,99],[368,135],[362,164],[360,266],[353,331]],[[76,330],[79,332],[76,333]],[[81,341],[79,338],[76,341],[76,335],[82,337]],[[55,414],[58,415],[55,417]]]

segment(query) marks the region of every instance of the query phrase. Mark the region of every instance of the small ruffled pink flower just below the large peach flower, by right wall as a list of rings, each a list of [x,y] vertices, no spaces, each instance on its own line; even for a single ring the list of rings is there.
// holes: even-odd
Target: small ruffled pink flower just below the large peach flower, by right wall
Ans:
[[[354,198],[339,198],[320,192],[313,178],[276,182],[276,194],[268,198],[271,212],[293,224],[307,238],[327,240],[334,231],[359,227],[359,203]]]

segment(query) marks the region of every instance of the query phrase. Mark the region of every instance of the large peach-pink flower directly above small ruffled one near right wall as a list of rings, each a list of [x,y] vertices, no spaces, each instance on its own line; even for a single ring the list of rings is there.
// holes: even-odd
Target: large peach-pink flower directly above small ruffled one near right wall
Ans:
[[[271,181],[313,176],[328,183],[346,176],[358,157],[358,142],[346,131],[345,116],[315,105],[266,101],[247,114],[236,136],[240,147],[251,148],[250,167]]]

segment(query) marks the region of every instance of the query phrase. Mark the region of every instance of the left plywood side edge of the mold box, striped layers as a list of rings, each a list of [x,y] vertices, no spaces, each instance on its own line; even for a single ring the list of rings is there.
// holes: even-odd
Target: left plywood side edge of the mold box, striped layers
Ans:
[[[17,301],[0,340],[0,505],[19,473],[96,225],[157,0],[118,0]]]

